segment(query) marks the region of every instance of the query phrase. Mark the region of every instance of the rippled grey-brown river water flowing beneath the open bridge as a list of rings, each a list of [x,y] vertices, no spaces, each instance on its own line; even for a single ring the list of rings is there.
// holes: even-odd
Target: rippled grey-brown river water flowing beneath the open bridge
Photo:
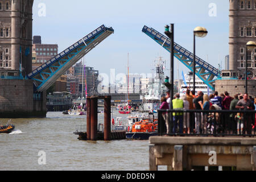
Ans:
[[[122,117],[113,111],[113,118]],[[103,123],[104,114],[98,114]],[[9,119],[0,119],[6,124]],[[147,171],[148,140],[81,141],[73,134],[86,115],[48,112],[46,118],[11,119],[15,130],[0,134],[0,170]],[[45,160],[44,160],[45,159]]]

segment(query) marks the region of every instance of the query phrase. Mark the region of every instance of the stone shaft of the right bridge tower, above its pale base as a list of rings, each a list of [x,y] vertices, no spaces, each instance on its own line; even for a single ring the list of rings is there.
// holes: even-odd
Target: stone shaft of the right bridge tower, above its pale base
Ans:
[[[229,69],[244,77],[246,43],[256,42],[256,0],[229,0],[229,5]],[[256,77],[256,50],[247,51],[247,68],[248,77]]]

